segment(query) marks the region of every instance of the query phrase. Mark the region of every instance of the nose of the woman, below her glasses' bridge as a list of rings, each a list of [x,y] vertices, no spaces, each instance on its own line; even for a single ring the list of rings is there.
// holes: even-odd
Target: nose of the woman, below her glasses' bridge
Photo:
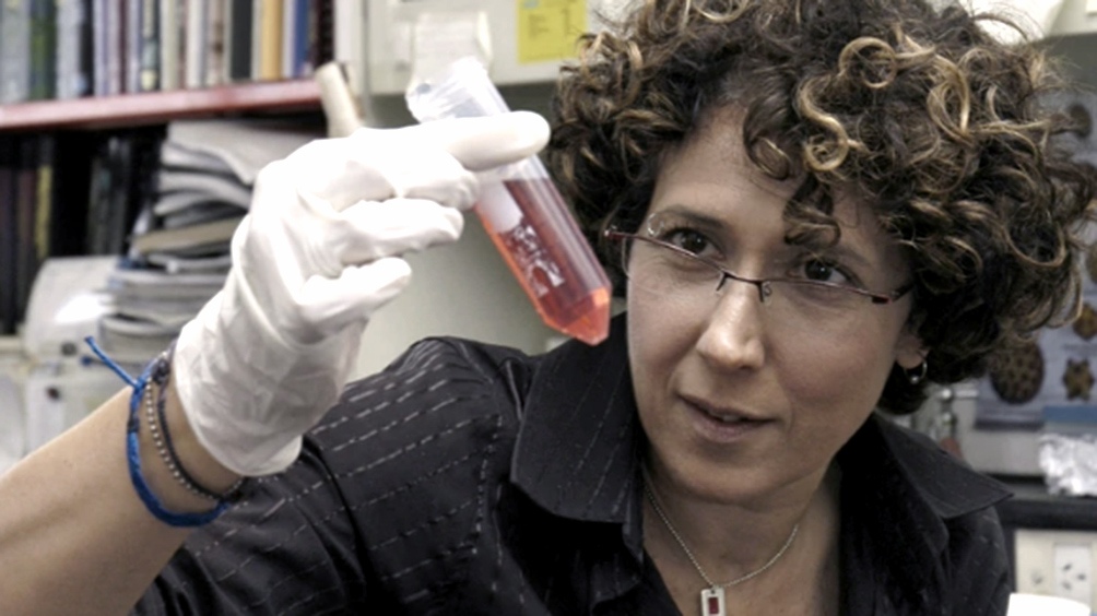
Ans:
[[[766,360],[766,306],[758,286],[726,278],[715,307],[709,312],[697,350],[720,369],[757,368]]]

